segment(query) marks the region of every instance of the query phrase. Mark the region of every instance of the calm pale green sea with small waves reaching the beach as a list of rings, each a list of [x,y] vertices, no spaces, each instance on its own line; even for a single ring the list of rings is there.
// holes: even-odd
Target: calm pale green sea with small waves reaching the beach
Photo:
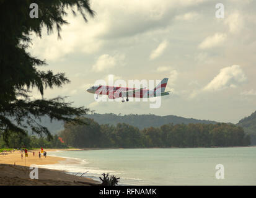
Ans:
[[[195,149],[102,149],[47,152],[66,160],[43,168],[118,185],[256,185],[256,147]]]

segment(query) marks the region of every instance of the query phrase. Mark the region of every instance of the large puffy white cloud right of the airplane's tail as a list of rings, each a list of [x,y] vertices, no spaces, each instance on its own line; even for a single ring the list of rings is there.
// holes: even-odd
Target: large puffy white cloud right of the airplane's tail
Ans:
[[[247,78],[240,66],[233,65],[230,67],[224,67],[219,71],[219,74],[203,88],[203,90],[218,91],[228,87],[235,88],[246,80]]]

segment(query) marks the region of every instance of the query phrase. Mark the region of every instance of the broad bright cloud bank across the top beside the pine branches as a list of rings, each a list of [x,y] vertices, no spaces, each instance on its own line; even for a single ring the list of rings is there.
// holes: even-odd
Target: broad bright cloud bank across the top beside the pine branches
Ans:
[[[59,60],[69,54],[94,54],[120,38],[133,37],[141,33],[152,32],[168,27],[178,12],[179,7],[190,7],[203,1],[175,0],[118,0],[92,1],[91,7],[97,12],[85,23],[80,14],[73,16],[71,9],[66,9],[64,17],[69,25],[63,25],[62,40],[57,40],[56,32],[47,35],[43,27],[42,38],[33,34],[33,46],[30,52],[48,60]],[[188,17],[188,16],[187,16]],[[111,44],[110,44],[111,45]],[[63,47],[64,46],[64,47]]]

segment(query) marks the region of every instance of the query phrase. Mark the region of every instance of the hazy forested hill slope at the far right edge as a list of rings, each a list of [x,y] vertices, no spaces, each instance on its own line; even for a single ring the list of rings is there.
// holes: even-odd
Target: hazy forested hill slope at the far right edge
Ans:
[[[237,125],[243,127],[245,134],[250,135],[251,144],[256,145],[256,111],[241,119]]]

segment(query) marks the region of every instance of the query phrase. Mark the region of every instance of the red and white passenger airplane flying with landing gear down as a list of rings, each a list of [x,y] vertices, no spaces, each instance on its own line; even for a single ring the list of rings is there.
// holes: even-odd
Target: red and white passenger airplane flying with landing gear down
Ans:
[[[113,86],[104,86],[104,85],[94,85],[90,88],[87,88],[87,92],[97,94],[96,99],[98,99],[99,95],[107,95],[110,99],[122,98],[126,97],[126,101],[129,101],[128,97],[133,98],[152,98],[158,96],[169,95],[170,92],[165,92],[166,85],[168,82],[168,78],[164,78],[161,82],[153,89],[148,90],[146,88],[129,88],[129,87],[113,87]]]

